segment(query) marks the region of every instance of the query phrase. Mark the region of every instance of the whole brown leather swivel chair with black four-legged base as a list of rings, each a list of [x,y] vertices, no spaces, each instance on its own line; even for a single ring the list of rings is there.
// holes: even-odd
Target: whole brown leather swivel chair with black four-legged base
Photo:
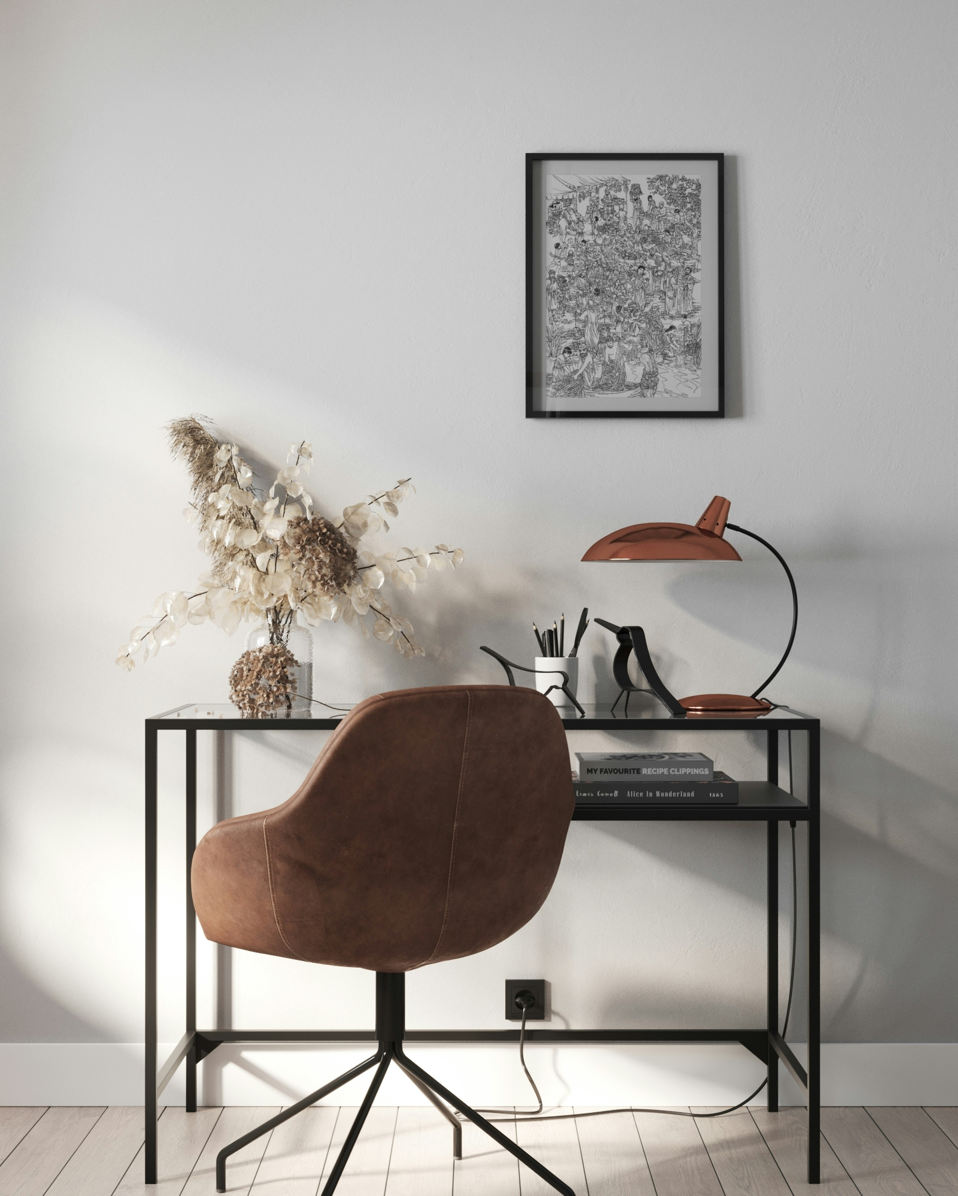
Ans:
[[[288,801],[203,836],[193,899],[207,939],[376,972],[376,1054],[220,1151],[216,1191],[226,1191],[228,1155],[376,1067],[329,1196],[395,1061],[452,1122],[457,1158],[459,1122],[443,1102],[573,1196],[402,1045],[405,972],[486,951],[525,926],[551,889],[572,808],[566,736],[545,697],[446,685],[360,702]]]

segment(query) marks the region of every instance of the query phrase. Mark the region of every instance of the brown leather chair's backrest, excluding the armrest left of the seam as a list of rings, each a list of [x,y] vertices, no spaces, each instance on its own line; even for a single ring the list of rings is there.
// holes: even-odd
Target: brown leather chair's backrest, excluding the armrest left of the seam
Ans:
[[[283,942],[374,971],[484,951],[542,905],[573,804],[565,731],[542,695],[449,685],[367,698],[263,816]]]

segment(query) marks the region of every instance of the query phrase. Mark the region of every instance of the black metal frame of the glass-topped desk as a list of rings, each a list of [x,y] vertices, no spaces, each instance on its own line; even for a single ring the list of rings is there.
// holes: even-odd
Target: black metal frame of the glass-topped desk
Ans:
[[[197,731],[330,731],[338,719],[184,719],[171,718],[190,706],[178,707],[146,720],[146,1058],[145,1058],[145,1183],[157,1183],[157,1111],[159,1097],[179,1064],[187,1064],[185,1107],[196,1112],[196,1064],[221,1043],[364,1043],[374,1042],[373,1030],[197,1030],[196,1027],[196,911],[190,892],[190,864],[196,847],[196,732]],[[779,1061],[804,1091],[808,1109],[808,1183],[820,1180],[820,726],[817,719],[776,719],[774,712],[761,720],[749,718],[586,718],[563,719],[567,731],[762,731],[767,737],[767,782],[750,783],[758,799],[738,806],[582,806],[573,818],[580,822],[765,822],[767,842],[767,1018],[755,1030],[526,1030],[529,1043],[647,1043],[737,1042],[768,1067],[768,1109],[779,1110]],[[157,1058],[157,805],[158,737],[160,731],[185,732],[185,864],[187,864],[187,993],[185,1033],[158,1070]],[[779,732],[801,731],[808,736],[806,757],[807,804],[777,789]],[[773,801],[763,793],[776,792]],[[788,800],[785,800],[788,798]],[[807,834],[807,1067],[804,1068],[779,1033],[779,823],[806,822]],[[518,1043],[518,1030],[408,1030],[408,1042],[421,1043]]]

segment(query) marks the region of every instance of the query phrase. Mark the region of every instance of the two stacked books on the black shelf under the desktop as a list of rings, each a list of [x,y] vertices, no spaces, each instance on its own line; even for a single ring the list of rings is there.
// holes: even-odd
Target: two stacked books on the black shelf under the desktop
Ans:
[[[697,751],[576,752],[575,800],[597,805],[738,805],[738,781]]]

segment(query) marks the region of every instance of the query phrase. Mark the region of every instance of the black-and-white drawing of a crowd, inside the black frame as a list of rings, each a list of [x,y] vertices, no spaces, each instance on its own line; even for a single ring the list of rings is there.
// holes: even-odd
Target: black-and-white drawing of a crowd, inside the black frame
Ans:
[[[545,179],[551,398],[702,395],[702,184],[688,173]]]

